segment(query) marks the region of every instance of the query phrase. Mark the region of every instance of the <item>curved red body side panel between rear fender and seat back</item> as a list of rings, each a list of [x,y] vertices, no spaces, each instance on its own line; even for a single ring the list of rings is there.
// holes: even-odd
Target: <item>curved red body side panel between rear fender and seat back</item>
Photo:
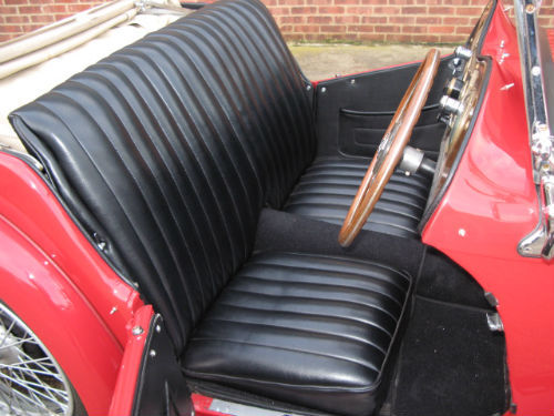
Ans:
[[[43,179],[22,160],[2,152],[0,215],[71,277],[120,345],[125,345],[125,325],[143,305],[138,293],[101,257]]]

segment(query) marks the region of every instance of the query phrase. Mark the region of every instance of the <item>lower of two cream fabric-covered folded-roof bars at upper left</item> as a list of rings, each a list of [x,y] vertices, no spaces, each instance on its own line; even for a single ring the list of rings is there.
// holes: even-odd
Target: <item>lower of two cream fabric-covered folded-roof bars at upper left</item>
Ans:
[[[124,14],[116,16],[115,18],[112,18],[82,33],[78,33],[69,39],[64,39],[58,43],[50,44],[43,49],[13,59],[9,62],[0,63],[0,79],[9,77],[12,73],[19,72],[25,68],[48,61],[49,59],[58,57],[59,54],[70,51],[83,43],[86,43],[91,39],[96,38],[98,35],[113,28],[114,26],[124,23],[133,19],[136,16],[136,13],[137,9],[129,10]]]

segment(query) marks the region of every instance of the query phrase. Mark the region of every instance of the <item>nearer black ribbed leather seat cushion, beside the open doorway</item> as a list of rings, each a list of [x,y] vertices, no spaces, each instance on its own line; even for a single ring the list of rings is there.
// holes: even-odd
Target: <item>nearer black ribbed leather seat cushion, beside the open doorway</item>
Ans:
[[[341,415],[369,415],[410,277],[352,260],[255,255],[229,282],[184,355],[189,377]]]

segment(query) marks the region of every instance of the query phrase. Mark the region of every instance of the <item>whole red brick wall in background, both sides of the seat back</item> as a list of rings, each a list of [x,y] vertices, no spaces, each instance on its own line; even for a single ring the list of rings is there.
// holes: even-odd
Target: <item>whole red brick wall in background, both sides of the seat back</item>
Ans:
[[[0,0],[0,41],[101,1]],[[468,37],[488,0],[263,1],[287,40],[450,43]],[[541,20],[548,28],[554,28],[553,3],[543,0]]]

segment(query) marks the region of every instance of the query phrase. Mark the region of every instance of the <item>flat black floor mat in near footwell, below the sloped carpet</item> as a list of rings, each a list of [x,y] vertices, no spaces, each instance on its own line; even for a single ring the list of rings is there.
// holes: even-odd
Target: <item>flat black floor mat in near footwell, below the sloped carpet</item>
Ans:
[[[485,311],[417,297],[391,414],[491,416],[506,408],[504,336]]]

